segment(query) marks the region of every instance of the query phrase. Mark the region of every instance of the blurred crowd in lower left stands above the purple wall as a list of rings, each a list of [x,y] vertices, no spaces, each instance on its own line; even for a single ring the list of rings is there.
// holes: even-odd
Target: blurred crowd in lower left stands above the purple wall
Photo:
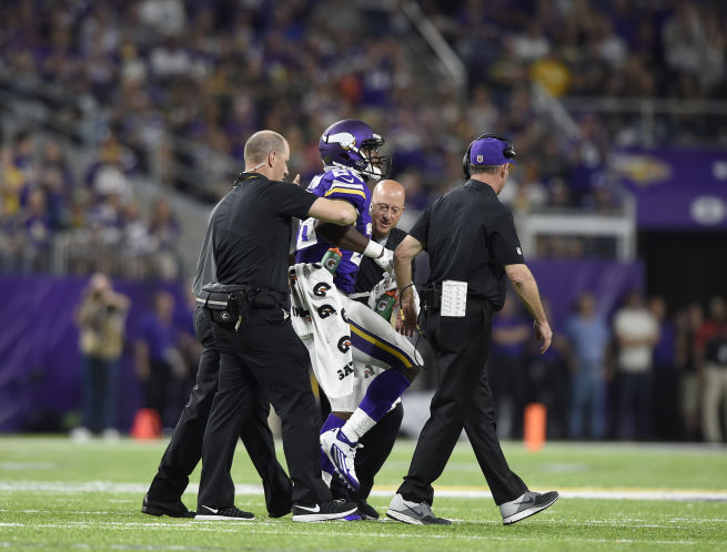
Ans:
[[[109,136],[77,175],[62,143],[31,130],[0,144],[0,272],[55,272],[62,255],[68,274],[178,277],[180,225],[163,197],[142,215],[123,153]]]

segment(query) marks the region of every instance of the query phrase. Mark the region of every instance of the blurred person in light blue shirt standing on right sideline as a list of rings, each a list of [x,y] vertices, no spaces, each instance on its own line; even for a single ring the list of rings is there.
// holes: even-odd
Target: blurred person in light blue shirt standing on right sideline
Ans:
[[[606,430],[606,355],[610,331],[606,319],[596,311],[592,294],[583,294],[576,305],[566,329],[573,368],[568,433],[572,439],[602,439]]]

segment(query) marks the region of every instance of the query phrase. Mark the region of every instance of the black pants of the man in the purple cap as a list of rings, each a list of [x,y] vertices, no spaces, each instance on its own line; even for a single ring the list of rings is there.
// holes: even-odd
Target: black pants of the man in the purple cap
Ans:
[[[420,433],[408,474],[397,492],[404,500],[432,504],[432,482],[444,471],[464,428],[495,503],[519,497],[527,487],[511,471],[499,447],[485,369],[492,339],[489,308],[467,301],[466,317],[442,318],[430,314],[425,328],[436,356],[438,384],[430,419]]]

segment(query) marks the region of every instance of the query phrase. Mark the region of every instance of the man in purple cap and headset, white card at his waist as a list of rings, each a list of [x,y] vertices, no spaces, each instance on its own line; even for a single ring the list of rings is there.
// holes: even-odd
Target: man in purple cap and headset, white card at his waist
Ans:
[[[558,497],[555,491],[528,491],[507,466],[485,370],[492,314],[505,300],[505,275],[535,319],[541,352],[547,350],[553,336],[535,278],[523,258],[513,215],[497,198],[514,156],[514,147],[504,136],[485,134],[475,140],[463,160],[467,182],[430,205],[396,248],[402,309],[413,327],[417,316],[411,262],[423,249],[430,254],[422,306],[440,381],[408,474],[387,511],[390,518],[405,523],[451,523],[432,513],[432,482],[442,474],[463,428],[504,524],[544,510]]]

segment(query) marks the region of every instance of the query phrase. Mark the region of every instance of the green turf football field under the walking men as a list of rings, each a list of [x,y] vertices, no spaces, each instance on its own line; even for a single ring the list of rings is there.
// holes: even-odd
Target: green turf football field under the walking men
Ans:
[[[548,443],[504,444],[548,510],[503,527],[469,446],[461,442],[435,484],[434,512],[450,527],[387,521],[294,523],[267,519],[260,480],[235,458],[236,505],[251,522],[201,522],[140,512],[165,440],[139,442],[0,437],[0,549],[6,550],[727,550],[727,449]],[[382,513],[408,467],[401,440],[370,502]],[[239,447],[240,449],[240,447]],[[279,450],[280,453],[280,450]],[[194,508],[199,469],[184,494]]]

